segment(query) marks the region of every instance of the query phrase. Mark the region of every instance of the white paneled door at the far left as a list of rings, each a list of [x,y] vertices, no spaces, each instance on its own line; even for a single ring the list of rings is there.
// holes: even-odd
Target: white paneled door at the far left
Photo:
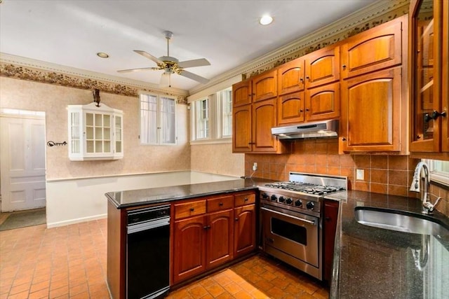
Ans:
[[[45,120],[0,116],[1,211],[45,207]]]

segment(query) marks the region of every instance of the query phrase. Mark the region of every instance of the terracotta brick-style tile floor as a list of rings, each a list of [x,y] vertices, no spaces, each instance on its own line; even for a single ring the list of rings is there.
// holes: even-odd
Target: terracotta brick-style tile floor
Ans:
[[[0,232],[0,299],[109,298],[106,234],[106,219]],[[328,290],[257,255],[172,291],[168,298],[328,298]]]

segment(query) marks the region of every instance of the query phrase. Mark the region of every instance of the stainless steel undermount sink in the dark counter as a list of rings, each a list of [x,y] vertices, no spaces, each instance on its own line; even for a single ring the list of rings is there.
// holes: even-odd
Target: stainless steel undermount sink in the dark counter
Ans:
[[[422,235],[449,235],[449,230],[429,216],[373,207],[356,207],[354,213],[358,223],[375,228]]]

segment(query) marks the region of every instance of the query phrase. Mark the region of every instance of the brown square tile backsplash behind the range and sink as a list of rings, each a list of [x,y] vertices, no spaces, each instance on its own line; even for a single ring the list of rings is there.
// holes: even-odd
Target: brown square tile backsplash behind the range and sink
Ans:
[[[289,172],[332,174],[348,177],[350,190],[417,197],[410,183],[419,159],[408,155],[339,155],[337,139],[304,139],[291,141],[292,150],[286,155],[246,154],[245,174],[264,179],[288,180]],[[363,172],[363,179],[356,173]],[[431,200],[443,197],[438,211],[448,215],[449,191],[432,185]]]

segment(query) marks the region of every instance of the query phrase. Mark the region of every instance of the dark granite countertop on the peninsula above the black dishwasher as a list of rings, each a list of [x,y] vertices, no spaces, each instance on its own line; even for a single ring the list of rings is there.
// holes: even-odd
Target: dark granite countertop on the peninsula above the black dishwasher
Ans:
[[[143,204],[156,204],[171,202],[173,200],[185,200],[187,198],[230,193],[241,190],[257,189],[257,186],[272,182],[267,179],[235,179],[231,181],[217,181],[210,183],[194,183],[180,186],[168,186],[161,188],[147,188],[139,190],[125,190],[106,193],[109,202],[118,209],[136,207]]]

